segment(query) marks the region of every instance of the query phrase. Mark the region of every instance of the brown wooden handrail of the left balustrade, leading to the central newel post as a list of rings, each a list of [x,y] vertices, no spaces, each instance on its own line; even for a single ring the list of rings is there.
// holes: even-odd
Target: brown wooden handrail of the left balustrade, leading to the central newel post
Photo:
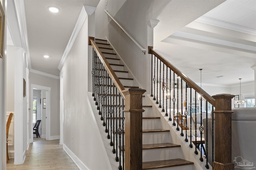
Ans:
[[[102,54],[102,52],[100,51],[99,47],[96,45],[96,43],[90,39],[90,44],[92,45],[92,47],[94,48],[95,52],[97,53],[100,61],[102,62],[102,64],[104,65],[104,67],[106,68],[108,74],[110,75],[110,78],[112,79],[112,81],[114,82],[114,84],[116,85],[116,88],[118,89],[118,91],[120,92],[120,95],[122,96],[122,98],[124,98],[125,100],[125,96],[122,93],[122,90],[125,90],[123,84],[120,82],[119,78],[116,76],[116,73],[114,72],[114,70],[111,68],[110,64],[108,63],[108,61],[106,60],[106,58],[104,57],[104,55]]]

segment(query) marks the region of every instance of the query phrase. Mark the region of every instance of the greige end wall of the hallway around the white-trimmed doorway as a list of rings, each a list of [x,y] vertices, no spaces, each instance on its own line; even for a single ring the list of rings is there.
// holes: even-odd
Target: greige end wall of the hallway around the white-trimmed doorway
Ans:
[[[30,72],[30,84],[51,88],[50,138],[58,139],[60,136],[60,80]]]

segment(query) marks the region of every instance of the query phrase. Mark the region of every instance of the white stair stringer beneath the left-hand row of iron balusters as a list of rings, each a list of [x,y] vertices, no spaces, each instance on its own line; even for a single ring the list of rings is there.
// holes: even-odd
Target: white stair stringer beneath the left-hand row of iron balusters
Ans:
[[[98,114],[98,110],[97,107],[95,105],[95,101],[93,100],[92,96],[92,92],[87,92],[88,95],[88,103],[90,110],[91,110],[91,116],[93,117],[93,119],[96,121],[97,125],[98,125],[98,132],[100,133],[100,139],[102,141],[102,145],[104,145],[102,148],[104,148],[104,154],[106,155],[106,160],[108,160],[109,164],[108,167],[106,167],[107,169],[116,169],[116,167],[119,166],[119,162],[115,161],[115,155],[112,153],[112,149],[113,147],[110,146],[110,141],[107,138],[107,133],[105,132],[105,126],[102,125],[102,120],[100,120],[100,116]],[[94,129],[95,131],[96,129]]]

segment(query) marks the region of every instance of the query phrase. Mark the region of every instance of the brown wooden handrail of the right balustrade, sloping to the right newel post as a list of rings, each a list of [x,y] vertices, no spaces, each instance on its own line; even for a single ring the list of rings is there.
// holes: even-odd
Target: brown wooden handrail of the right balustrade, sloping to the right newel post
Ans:
[[[190,78],[183,74],[178,68],[166,61],[160,54],[154,51],[153,47],[148,47],[148,53],[155,55],[160,61],[162,61],[166,66],[168,66],[175,74],[180,76],[190,87],[192,87],[196,92],[203,96],[212,106],[215,107],[215,99],[212,98],[207,92],[200,88],[196,83],[194,83]]]

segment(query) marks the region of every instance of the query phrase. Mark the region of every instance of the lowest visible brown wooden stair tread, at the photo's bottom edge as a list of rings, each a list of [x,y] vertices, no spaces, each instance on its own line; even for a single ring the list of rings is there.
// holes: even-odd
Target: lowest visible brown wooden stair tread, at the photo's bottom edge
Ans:
[[[173,166],[192,165],[193,162],[183,159],[169,159],[169,160],[157,160],[150,162],[142,162],[142,170],[156,169],[156,168],[167,168]]]

